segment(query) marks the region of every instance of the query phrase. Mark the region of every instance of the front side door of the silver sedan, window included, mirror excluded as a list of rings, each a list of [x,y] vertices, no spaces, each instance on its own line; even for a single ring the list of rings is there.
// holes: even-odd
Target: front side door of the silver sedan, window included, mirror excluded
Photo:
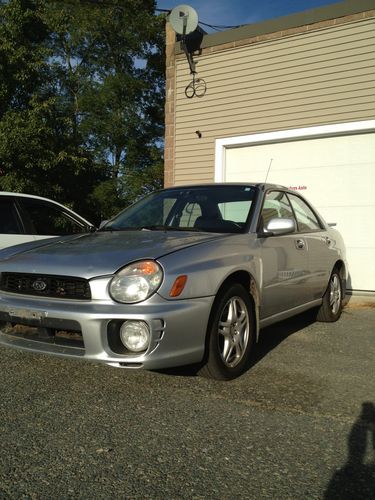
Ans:
[[[288,311],[311,300],[306,283],[309,274],[307,244],[298,233],[274,236],[267,223],[275,218],[294,219],[285,192],[266,193],[258,222],[262,262],[261,319]]]

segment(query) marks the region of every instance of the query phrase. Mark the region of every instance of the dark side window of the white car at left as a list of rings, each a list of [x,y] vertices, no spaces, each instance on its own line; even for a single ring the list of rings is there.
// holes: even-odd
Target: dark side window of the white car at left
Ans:
[[[22,199],[19,203],[31,234],[62,236],[85,232],[85,227],[59,207],[39,200]]]

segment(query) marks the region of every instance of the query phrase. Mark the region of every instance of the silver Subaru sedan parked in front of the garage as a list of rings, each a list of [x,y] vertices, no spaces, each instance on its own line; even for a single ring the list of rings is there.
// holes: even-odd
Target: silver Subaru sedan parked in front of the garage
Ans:
[[[0,252],[0,343],[115,367],[232,379],[260,328],[341,314],[340,234],[271,184],[174,187],[92,234]]]

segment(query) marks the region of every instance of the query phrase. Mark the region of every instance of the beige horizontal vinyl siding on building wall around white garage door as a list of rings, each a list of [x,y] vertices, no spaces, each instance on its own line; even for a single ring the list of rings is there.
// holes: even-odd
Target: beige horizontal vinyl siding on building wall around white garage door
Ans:
[[[205,53],[193,99],[178,56],[174,184],[214,180],[217,138],[374,118],[374,54],[374,18]]]

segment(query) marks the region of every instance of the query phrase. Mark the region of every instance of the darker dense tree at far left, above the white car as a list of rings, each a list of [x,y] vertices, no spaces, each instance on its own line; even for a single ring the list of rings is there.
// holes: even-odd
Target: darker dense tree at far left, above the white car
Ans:
[[[0,187],[49,196],[87,213],[82,200],[98,169],[91,152],[72,140],[61,106],[46,3],[11,0],[0,12]]]

